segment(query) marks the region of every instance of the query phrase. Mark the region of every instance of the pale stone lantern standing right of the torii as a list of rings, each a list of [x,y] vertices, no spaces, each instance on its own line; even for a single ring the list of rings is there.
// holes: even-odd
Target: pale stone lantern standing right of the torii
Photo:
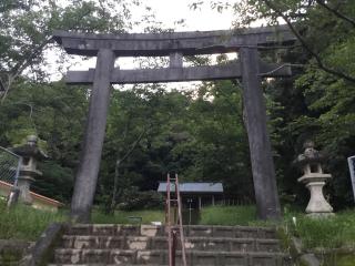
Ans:
[[[333,207],[323,195],[323,186],[332,178],[331,174],[324,174],[322,162],[324,156],[314,149],[314,143],[307,141],[304,144],[304,153],[295,160],[295,164],[303,171],[303,176],[297,181],[305,184],[311,192],[311,200],[306,207],[310,216],[320,217],[333,214]]]

